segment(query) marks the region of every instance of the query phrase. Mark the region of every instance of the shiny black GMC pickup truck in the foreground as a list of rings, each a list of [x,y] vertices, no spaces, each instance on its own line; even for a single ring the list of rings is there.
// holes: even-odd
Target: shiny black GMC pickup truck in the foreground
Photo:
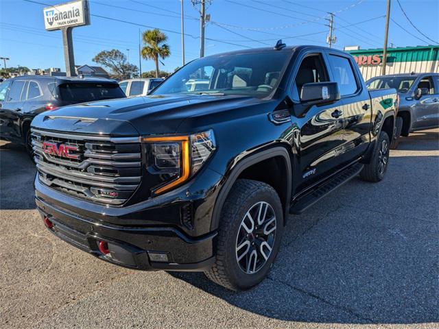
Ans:
[[[200,58],[147,97],[39,114],[36,205],[51,232],[102,260],[248,289],[289,214],[358,174],[383,179],[395,102],[335,49]]]

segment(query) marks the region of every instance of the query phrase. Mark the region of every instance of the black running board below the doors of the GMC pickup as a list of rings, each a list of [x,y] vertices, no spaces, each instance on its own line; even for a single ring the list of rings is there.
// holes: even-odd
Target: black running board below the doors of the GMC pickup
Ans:
[[[344,183],[358,175],[363,167],[363,164],[356,163],[353,164],[353,166],[344,169],[340,173],[337,173],[337,175],[335,175],[334,178],[331,178],[331,180],[324,182],[315,190],[310,191],[302,197],[299,197],[291,208],[289,208],[289,213],[296,215],[302,213],[307,208],[318,202],[318,200],[322,199],[322,197],[334,191],[335,188],[342,186]]]

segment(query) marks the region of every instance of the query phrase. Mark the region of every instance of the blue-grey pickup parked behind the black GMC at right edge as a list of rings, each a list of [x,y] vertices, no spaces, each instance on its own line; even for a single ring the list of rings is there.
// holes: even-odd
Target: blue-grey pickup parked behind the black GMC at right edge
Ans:
[[[396,149],[399,136],[439,127],[439,74],[411,73],[373,77],[369,89],[395,88],[399,95],[396,134],[391,145]]]

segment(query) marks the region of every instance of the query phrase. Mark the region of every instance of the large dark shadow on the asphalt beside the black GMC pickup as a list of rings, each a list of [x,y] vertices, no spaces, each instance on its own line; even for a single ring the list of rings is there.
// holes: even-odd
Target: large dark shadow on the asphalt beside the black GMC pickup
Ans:
[[[431,170],[439,157],[390,162],[383,182],[354,179],[290,217],[269,278],[250,291],[228,291],[202,273],[169,275],[284,321],[438,322],[439,172]]]

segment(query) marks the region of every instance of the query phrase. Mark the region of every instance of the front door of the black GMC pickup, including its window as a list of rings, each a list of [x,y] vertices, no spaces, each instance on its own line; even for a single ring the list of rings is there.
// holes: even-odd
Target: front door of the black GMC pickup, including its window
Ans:
[[[327,62],[322,53],[307,53],[300,60],[300,66],[294,78],[292,99],[302,103],[300,93],[302,86],[313,82],[330,80]],[[294,106],[301,106],[300,104]],[[337,169],[343,140],[342,101],[326,105],[312,105],[292,122],[298,125],[298,167],[294,170],[294,179],[298,182],[295,194],[312,184],[326,178]],[[297,168],[297,167],[296,167]],[[300,183],[299,183],[300,182]]]

